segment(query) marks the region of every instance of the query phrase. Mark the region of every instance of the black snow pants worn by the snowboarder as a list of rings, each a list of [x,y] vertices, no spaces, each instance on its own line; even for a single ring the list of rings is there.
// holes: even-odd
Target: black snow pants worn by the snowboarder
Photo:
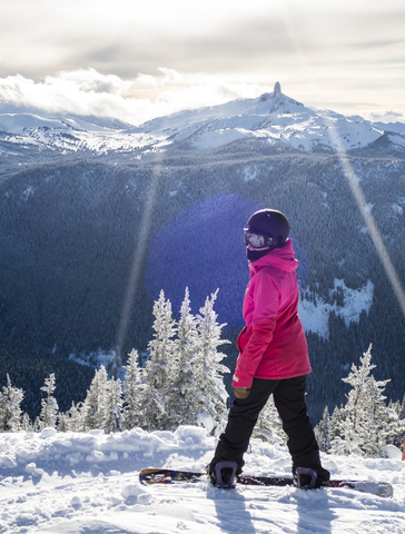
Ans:
[[[219,436],[211,465],[218,462],[236,462],[237,474],[245,465],[254,426],[261,408],[273,394],[284,432],[288,436],[288,449],[293,459],[293,473],[297,467],[310,467],[318,473],[318,482],[327,482],[329,473],[320,465],[319,447],[305,404],[306,376],[280,380],[254,378],[249,396],[235,398],[229,411],[228,424]]]

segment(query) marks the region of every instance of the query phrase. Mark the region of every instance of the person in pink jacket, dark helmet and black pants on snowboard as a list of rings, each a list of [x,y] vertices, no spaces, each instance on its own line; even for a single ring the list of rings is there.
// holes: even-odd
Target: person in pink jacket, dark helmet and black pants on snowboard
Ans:
[[[216,486],[228,487],[241,473],[244,453],[261,408],[273,394],[288,436],[293,474],[319,487],[329,479],[305,404],[308,348],[298,317],[299,290],[287,218],[275,209],[256,211],[244,229],[250,281],[244,300],[246,326],[238,337],[233,377],[235,400],[214,459],[207,466]],[[297,472],[297,468],[298,472]],[[307,483],[305,482],[305,483]]]

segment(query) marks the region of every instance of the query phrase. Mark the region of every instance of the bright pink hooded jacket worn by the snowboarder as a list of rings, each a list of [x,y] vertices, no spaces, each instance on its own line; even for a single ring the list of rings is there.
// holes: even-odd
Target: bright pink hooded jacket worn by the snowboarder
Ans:
[[[307,342],[298,317],[298,284],[293,241],[249,264],[244,300],[246,326],[238,337],[233,387],[257,378],[293,378],[310,373]]]

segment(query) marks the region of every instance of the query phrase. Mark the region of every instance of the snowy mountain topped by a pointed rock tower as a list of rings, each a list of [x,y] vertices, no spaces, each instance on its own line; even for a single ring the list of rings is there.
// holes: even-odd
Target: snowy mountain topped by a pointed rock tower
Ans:
[[[397,136],[405,134],[405,125]],[[382,123],[333,111],[314,111],[287,97],[275,85],[274,91],[257,99],[235,100],[223,106],[154,119],[131,130],[187,140],[189,148],[213,148],[237,139],[261,139],[271,145],[289,144],[305,150],[349,150],[362,148],[384,134]]]

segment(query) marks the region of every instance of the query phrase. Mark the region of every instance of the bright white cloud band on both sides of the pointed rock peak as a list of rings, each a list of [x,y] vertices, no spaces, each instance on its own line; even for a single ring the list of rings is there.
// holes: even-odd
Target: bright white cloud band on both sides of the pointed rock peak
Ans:
[[[335,80],[332,86],[324,81],[327,90],[320,91],[317,87],[319,80],[304,83],[299,76],[297,79],[288,79],[287,73],[281,73],[280,77],[276,75],[271,86],[268,86],[236,83],[206,72],[179,72],[167,67],[158,68],[156,76],[139,73],[132,80],[103,75],[92,68],[61,71],[57,76],[47,76],[42,81],[20,75],[0,78],[0,113],[109,117],[138,126],[184,109],[216,106],[238,98],[257,98],[264,92],[273,91],[278,79],[285,93],[308,107],[360,115],[372,121],[405,122],[401,108],[399,111],[391,111],[383,106],[377,108],[373,102],[373,91],[368,92],[367,86],[346,87],[348,81],[343,79]],[[385,92],[386,100],[389,97],[392,106],[394,98],[391,98],[387,90]],[[358,101],[338,106],[337,93],[339,98],[356,97]],[[326,96],[332,99],[330,102],[325,100]],[[359,109],[358,102],[362,98],[363,109]]]

